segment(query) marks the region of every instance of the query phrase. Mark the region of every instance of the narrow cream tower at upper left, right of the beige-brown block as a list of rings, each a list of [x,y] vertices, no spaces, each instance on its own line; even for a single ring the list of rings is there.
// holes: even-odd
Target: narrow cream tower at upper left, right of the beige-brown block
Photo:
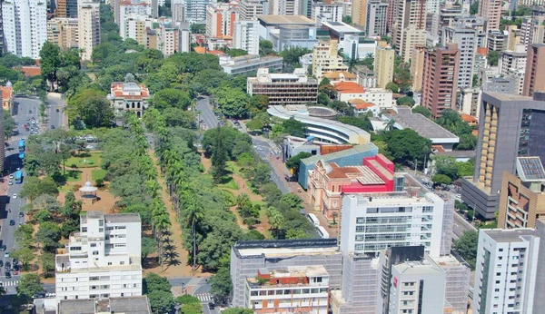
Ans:
[[[91,60],[93,48],[100,44],[100,5],[84,3],[77,17],[79,49],[82,60]]]

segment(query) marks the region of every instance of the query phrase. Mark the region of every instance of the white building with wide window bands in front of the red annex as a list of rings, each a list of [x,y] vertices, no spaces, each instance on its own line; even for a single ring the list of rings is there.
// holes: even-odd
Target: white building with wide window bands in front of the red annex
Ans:
[[[392,246],[424,246],[432,258],[441,253],[444,201],[433,193],[347,194],[342,199],[343,253],[376,254]]]

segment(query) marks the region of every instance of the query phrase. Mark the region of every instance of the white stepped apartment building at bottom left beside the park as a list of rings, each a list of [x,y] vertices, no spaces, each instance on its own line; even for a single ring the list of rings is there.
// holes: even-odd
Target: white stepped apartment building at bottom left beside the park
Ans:
[[[138,214],[82,214],[80,231],[55,255],[57,302],[141,296],[141,234]]]

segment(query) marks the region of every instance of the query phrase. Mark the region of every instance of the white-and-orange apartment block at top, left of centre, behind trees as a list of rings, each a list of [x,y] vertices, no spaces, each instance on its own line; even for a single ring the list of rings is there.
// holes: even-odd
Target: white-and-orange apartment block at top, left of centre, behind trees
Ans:
[[[238,18],[238,7],[234,5],[208,5],[206,7],[206,36],[209,38],[232,37],[234,23]]]

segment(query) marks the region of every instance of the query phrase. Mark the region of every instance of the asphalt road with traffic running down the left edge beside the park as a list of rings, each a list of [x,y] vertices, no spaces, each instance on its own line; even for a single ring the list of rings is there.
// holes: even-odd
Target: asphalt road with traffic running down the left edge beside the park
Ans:
[[[48,99],[47,103],[49,122],[42,129],[45,129],[45,127],[50,128],[50,125],[54,125],[55,127],[63,127],[62,99]],[[39,120],[39,104],[40,102],[37,99],[15,98],[15,105],[12,114],[14,116],[15,123],[17,123],[18,134],[8,139],[7,142],[9,146],[6,147],[7,149],[5,153],[5,170],[10,175],[15,174],[17,168],[23,168],[23,162],[19,159],[17,142],[22,138],[28,137],[29,135],[29,132],[25,131],[24,125],[29,124],[33,117],[36,120]],[[59,108],[58,113],[56,112],[56,108]],[[43,130],[40,130],[39,132],[42,131]],[[23,173],[23,180],[25,181],[24,169]],[[6,176],[5,182],[9,182],[9,180],[10,179]],[[0,231],[0,243],[6,247],[5,251],[0,251],[0,260],[3,260],[4,264],[6,261],[12,261],[12,259],[6,255],[7,253],[15,250],[15,230],[17,226],[25,223],[25,217],[19,217],[19,210],[25,205],[25,200],[19,198],[18,196],[16,198],[14,197],[15,194],[19,195],[21,191],[21,184],[15,184],[14,180],[13,185],[8,185],[7,187],[7,192],[2,191],[2,196],[0,196],[0,219],[2,220],[0,221],[2,226]],[[9,225],[11,220],[15,221],[15,226]],[[16,292],[15,288],[18,281],[19,276],[15,275],[13,271],[12,277],[8,279],[5,278],[5,269],[0,270],[0,283],[5,286],[8,294]]]

